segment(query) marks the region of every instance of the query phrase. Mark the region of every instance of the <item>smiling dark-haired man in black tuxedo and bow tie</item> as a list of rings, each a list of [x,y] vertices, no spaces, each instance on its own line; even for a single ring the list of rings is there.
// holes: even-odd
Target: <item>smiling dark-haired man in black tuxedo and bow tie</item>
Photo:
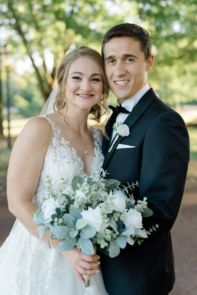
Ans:
[[[170,229],[177,217],[189,162],[189,137],[183,119],[157,98],[147,83],[152,69],[149,34],[136,24],[120,24],[103,38],[102,56],[108,84],[120,104],[106,125],[103,168],[124,186],[140,183],[132,193],[147,197],[153,215],[143,219],[146,230],[159,224],[141,245],[121,249],[115,258],[101,256],[109,295],[167,295],[175,281]],[[127,124],[130,133],[113,146],[113,124]],[[131,192],[130,192],[131,194]]]

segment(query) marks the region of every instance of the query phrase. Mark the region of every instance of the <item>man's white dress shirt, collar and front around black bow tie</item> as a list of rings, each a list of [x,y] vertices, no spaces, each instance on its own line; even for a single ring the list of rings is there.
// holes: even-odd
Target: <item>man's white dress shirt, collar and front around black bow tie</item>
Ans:
[[[129,112],[132,111],[132,109],[134,108],[134,106],[138,103],[138,101],[141,99],[141,97],[150,89],[149,84],[146,83],[146,85],[144,85],[144,87],[142,87],[138,92],[136,92],[135,94],[133,94],[131,97],[129,97],[128,99],[126,99],[121,106],[123,106],[125,109],[127,109]],[[117,100],[117,105],[119,106],[120,103]],[[123,113],[119,113],[118,116],[116,117],[116,122],[117,121],[121,121],[124,122],[124,120],[126,119],[126,117],[128,117],[129,114],[123,114]],[[114,138],[114,136],[116,135],[115,130],[113,130],[112,132],[112,137],[111,137],[111,142]]]

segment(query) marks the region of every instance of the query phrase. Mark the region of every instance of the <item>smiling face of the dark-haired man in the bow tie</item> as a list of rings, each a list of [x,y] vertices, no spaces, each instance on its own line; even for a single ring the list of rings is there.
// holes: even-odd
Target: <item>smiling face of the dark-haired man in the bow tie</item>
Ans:
[[[139,41],[132,37],[115,37],[105,44],[104,64],[109,88],[123,103],[147,83],[153,55],[146,61]]]

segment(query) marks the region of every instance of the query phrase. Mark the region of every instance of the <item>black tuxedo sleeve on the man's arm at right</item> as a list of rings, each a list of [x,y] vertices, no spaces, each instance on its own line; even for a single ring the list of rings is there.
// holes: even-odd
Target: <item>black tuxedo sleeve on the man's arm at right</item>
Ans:
[[[143,219],[146,230],[159,224],[152,237],[170,231],[183,197],[189,162],[189,136],[176,112],[159,114],[146,132],[140,179],[140,199],[147,197],[153,215]]]

